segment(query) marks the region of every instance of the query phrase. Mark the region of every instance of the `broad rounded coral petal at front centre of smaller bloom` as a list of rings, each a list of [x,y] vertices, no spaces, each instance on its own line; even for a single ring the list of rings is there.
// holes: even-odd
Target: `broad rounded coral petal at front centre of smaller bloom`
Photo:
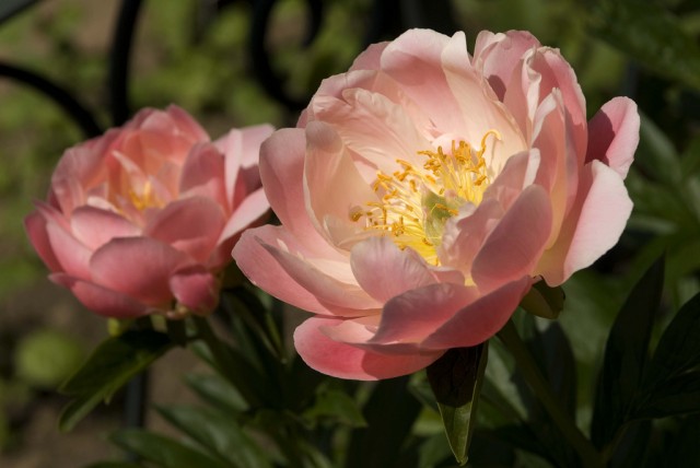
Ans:
[[[93,282],[153,306],[172,299],[170,278],[191,264],[182,251],[148,237],[116,238],[92,256]]]

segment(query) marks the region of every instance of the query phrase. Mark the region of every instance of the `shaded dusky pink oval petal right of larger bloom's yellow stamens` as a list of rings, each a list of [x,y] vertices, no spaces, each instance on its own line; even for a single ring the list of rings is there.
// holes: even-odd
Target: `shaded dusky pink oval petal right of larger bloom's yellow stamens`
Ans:
[[[472,278],[482,292],[529,276],[551,230],[551,206],[544,188],[532,185],[489,234],[474,259]],[[514,235],[516,233],[516,235]]]

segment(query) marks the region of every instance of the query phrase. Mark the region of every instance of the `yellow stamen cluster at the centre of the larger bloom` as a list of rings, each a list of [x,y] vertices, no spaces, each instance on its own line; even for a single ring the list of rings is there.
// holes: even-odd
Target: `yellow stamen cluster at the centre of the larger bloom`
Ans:
[[[465,203],[478,206],[491,183],[483,159],[489,136],[501,140],[497,130],[481,138],[479,150],[465,141],[452,141],[450,153],[419,151],[425,156],[422,167],[396,160],[399,169],[393,174],[377,172],[372,188],[378,201],[353,207],[350,219],[364,221],[364,229],[390,235],[400,248],[411,247],[427,261],[440,265],[436,248],[447,220]]]

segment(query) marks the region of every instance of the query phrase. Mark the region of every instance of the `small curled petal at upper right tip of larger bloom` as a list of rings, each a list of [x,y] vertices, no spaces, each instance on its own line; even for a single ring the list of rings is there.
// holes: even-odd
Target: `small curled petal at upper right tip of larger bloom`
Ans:
[[[627,177],[639,144],[639,126],[633,101],[615,97],[605,103],[588,124],[586,162],[603,161],[620,177]]]

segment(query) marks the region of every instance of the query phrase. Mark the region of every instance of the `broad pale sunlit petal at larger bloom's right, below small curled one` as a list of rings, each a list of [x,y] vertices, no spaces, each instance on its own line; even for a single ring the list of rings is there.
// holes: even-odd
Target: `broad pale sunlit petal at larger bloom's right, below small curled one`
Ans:
[[[617,243],[631,211],[632,201],[619,173],[600,161],[592,161],[581,174],[579,199],[536,273],[549,285],[563,283]]]

